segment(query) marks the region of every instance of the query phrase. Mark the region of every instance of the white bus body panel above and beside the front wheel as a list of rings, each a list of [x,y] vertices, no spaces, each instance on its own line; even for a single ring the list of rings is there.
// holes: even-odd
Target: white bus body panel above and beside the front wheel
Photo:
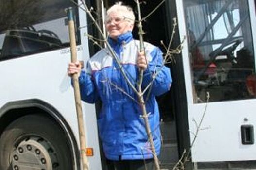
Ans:
[[[65,54],[63,51],[68,51],[68,48],[0,62],[0,72],[6,77],[0,86],[1,89],[8,89],[0,91],[0,107],[7,102],[30,99],[47,102],[62,114],[79,144],[74,93],[67,75],[70,53]],[[79,58],[81,53],[78,51]],[[95,107],[82,103],[87,147],[94,149],[94,156],[89,157],[90,167],[100,169]]]

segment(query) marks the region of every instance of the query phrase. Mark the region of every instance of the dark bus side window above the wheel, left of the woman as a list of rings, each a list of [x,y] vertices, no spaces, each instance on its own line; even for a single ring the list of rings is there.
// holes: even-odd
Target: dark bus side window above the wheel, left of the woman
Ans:
[[[70,6],[68,0],[0,0],[0,60],[68,47]],[[76,38],[80,44],[79,32]]]

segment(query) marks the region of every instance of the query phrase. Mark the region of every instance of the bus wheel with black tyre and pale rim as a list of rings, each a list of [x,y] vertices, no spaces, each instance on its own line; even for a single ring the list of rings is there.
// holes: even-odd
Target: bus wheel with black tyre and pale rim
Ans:
[[[73,170],[64,131],[42,115],[12,122],[0,137],[0,170]]]

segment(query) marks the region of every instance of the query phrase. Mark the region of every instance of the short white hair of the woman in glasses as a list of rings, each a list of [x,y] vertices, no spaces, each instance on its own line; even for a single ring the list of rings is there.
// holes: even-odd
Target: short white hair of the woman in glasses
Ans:
[[[107,10],[107,17],[112,12],[122,12],[124,19],[134,25],[135,15],[133,9],[130,6],[123,5],[123,3],[119,1]]]

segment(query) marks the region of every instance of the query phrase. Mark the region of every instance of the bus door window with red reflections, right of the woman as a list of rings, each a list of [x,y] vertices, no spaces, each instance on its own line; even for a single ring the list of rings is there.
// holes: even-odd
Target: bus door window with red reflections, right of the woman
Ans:
[[[255,74],[247,0],[184,0],[194,102],[255,98]]]

